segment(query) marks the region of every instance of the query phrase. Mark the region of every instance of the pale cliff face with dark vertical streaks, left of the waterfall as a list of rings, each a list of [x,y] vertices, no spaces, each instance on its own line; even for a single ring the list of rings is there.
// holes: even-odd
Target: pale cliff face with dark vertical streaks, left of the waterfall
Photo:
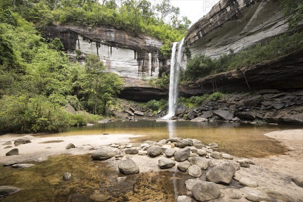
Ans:
[[[107,70],[123,77],[150,78],[159,73],[158,51],[161,42],[144,35],[130,36],[126,31],[109,26],[91,30],[82,26],[46,26],[46,38],[59,37],[66,51],[79,49],[83,54],[98,55]]]

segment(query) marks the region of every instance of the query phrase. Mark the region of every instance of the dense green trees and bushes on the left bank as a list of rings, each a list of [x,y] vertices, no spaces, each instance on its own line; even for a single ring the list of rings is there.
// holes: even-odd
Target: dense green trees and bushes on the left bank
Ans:
[[[69,62],[59,39],[46,41],[17,13],[0,19],[0,133],[59,132],[106,114],[122,86],[118,75],[94,56],[85,66]],[[65,112],[67,105],[79,112]]]

